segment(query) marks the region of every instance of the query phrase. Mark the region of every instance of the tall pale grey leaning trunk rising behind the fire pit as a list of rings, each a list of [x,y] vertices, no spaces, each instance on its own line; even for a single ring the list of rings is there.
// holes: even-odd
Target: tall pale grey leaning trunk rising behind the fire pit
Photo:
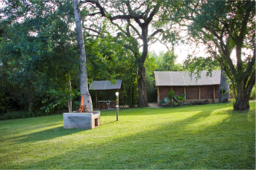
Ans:
[[[88,91],[87,83],[87,65],[86,65],[86,55],[84,50],[84,35],[82,29],[82,22],[80,18],[80,10],[78,0],[73,0],[74,16],[75,16],[75,30],[78,39],[78,53],[79,53],[79,71],[80,71],[80,92],[81,96],[84,97],[84,105],[87,111],[93,111],[93,102]],[[81,103],[83,105],[83,103]]]

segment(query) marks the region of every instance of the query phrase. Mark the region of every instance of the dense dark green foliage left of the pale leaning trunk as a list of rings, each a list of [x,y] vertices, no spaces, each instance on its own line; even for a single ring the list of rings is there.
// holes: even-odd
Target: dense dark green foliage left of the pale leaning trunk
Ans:
[[[29,111],[31,116],[63,107],[68,98],[78,95],[72,1],[55,1],[54,8],[42,1],[6,3],[3,23],[8,26],[0,44],[4,93],[19,104],[14,109]],[[68,71],[73,78],[72,91],[67,90]]]

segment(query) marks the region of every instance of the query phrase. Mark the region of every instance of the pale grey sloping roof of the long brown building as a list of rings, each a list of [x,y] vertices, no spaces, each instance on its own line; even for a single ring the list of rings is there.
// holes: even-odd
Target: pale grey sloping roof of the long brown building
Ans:
[[[196,75],[190,77],[186,71],[154,71],[156,86],[184,86],[184,85],[219,85],[221,71],[213,71],[212,76],[206,76],[202,71],[201,78],[196,81]]]

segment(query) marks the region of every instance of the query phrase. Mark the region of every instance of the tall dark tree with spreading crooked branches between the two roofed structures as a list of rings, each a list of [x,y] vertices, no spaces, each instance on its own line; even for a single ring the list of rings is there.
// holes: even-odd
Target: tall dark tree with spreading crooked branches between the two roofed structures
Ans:
[[[138,62],[138,88],[139,88],[139,105],[147,105],[146,96],[146,71],[145,61],[148,56],[149,42],[158,33],[163,33],[161,24],[157,19],[158,13],[163,13],[160,9],[163,1],[81,1],[88,4],[87,16],[100,15],[106,17],[113,25],[118,27],[122,37],[129,39],[131,51],[134,53]],[[153,31],[151,31],[153,30]],[[139,52],[140,42],[143,51]]]

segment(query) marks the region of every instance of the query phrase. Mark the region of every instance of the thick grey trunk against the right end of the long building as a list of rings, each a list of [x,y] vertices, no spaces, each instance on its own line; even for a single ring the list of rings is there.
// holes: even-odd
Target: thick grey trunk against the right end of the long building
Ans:
[[[225,71],[222,70],[219,85],[219,102],[228,102],[229,94],[230,89],[228,84],[228,77],[225,75]]]

